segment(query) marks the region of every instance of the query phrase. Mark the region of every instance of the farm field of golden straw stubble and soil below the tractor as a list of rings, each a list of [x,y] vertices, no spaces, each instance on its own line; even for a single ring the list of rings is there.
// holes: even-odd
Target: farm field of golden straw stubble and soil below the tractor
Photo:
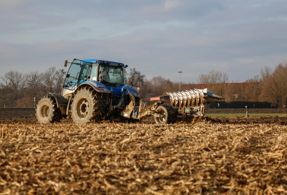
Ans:
[[[282,114],[77,125],[0,110],[0,194],[286,194]]]

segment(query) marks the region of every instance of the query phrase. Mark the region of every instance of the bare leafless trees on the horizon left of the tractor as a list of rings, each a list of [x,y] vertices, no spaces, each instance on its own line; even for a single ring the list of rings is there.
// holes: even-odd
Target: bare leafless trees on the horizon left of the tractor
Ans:
[[[0,76],[0,107],[34,107],[49,92],[60,93],[66,77],[64,69],[52,66],[44,72],[10,70]]]

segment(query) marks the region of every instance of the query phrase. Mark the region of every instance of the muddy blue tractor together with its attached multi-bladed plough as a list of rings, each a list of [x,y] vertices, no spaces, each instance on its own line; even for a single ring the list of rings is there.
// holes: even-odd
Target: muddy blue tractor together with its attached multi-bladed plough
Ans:
[[[149,105],[138,90],[126,85],[123,63],[97,59],[74,59],[67,72],[61,94],[49,93],[37,104],[39,123],[60,122],[72,118],[74,123],[110,121],[139,121],[154,116],[158,125],[174,123],[183,116],[203,117],[204,103],[223,99],[204,90],[167,93],[170,104],[158,101]]]

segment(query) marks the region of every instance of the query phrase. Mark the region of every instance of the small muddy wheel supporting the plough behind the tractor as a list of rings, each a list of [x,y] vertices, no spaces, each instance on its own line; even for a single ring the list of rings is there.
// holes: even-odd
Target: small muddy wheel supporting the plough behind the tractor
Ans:
[[[165,125],[175,122],[175,109],[171,104],[161,104],[155,109],[155,112],[162,115],[162,117],[155,117],[157,125]]]

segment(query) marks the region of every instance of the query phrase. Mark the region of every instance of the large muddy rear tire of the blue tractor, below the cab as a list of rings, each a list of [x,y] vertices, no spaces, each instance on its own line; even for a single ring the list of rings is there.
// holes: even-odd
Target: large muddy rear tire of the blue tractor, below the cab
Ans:
[[[71,105],[74,123],[99,122],[105,117],[105,105],[100,95],[91,87],[79,89]]]

